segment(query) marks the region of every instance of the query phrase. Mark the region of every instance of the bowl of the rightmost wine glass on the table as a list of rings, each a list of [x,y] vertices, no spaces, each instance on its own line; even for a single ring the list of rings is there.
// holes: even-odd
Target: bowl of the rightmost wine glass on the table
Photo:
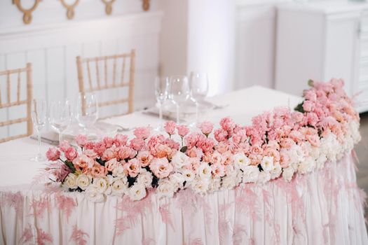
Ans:
[[[191,97],[197,102],[203,101],[208,93],[207,73],[192,71],[190,76]]]

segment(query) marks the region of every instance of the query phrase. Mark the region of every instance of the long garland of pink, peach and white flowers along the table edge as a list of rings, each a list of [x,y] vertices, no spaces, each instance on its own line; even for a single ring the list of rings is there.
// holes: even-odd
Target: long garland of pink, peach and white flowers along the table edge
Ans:
[[[321,169],[360,141],[359,114],[343,90],[343,80],[308,82],[304,102],[294,111],[280,107],[240,126],[223,118],[190,132],[185,125],[165,123],[167,135],[137,127],[134,139],[117,134],[102,141],[76,137],[80,148],[63,141],[50,148],[50,179],[69,191],[85,192],[102,202],[106,195],[142,200],[147,188],[161,197],[191,188],[195,193],[232,189],[241,183],[266,183]]]

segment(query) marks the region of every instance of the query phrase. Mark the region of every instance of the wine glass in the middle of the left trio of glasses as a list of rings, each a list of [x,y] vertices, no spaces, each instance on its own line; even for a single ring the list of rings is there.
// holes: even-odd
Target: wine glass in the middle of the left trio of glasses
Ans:
[[[59,144],[62,142],[62,132],[71,122],[71,106],[68,100],[54,101],[50,104],[49,123],[59,134]]]

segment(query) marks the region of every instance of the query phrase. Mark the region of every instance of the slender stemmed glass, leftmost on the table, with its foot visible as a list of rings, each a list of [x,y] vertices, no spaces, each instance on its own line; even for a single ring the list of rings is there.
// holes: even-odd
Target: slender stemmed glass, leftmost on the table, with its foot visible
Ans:
[[[31,158],[31,160],[34,162],[42,162],[46,160],[46,158],[41,155],[41,130],[46,125],[46,101],[44,99],[32,99],[31,106],[32,122],[39,141],[39,153],[36,157]]]

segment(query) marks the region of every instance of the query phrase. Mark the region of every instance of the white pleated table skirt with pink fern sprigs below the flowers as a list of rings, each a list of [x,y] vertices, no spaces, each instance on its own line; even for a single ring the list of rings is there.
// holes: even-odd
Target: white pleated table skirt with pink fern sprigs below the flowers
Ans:
[[[368,244],[352,156],[292,182],[139,202],[13,187],[0,192],[0,244]]]

